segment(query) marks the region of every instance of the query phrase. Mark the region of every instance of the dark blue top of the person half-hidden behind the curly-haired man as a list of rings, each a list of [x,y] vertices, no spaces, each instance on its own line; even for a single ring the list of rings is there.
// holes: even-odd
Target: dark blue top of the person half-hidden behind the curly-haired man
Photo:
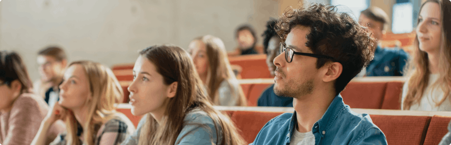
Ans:
[[[258,98],[257,105],[271,107],[293,107],[293,98],[277,96],[274,93],[273,84],[261,93],[260,98]]]

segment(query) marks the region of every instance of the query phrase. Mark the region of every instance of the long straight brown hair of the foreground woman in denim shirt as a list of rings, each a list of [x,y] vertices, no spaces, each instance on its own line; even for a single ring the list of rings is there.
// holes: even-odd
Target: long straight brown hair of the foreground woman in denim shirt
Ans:
[[[160,124],[151,115],[146,115],[138,145],[175,145],[184,124],[180,120],[193,109],[205,111],[212,118],[216,134],[223,136],[218,145],[244,144],[231,119],[213,109],[193,60],[186,51],[172,45],[154,45],[141,51],[140,55],[157,67],[166,85],[177,82],[177,92],[175,97],[169,99]],[[221,128],[220,132],[218,128]]]

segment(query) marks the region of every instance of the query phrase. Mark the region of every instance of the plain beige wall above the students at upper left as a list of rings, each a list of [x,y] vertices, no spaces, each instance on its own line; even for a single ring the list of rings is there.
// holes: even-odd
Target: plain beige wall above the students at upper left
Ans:
[[[107,66],[134,62],[138,50],[154,44],[187,48],[206,34],[230,51],[239,24],[254,25],[261,43],[278,9],[277,0],[2,0],[0,49],[19,52],[35,80],[36,53],[50,44],[62,46],[69,61]]]

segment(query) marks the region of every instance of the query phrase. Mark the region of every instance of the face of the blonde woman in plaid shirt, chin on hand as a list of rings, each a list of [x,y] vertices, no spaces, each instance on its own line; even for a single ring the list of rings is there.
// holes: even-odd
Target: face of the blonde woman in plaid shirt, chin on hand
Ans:
[[[64,81],[60,85],[61,106],[74,109],[84,106],[87,99],[91,98],[88,77],[80,64],[74,64],[64,73]]]

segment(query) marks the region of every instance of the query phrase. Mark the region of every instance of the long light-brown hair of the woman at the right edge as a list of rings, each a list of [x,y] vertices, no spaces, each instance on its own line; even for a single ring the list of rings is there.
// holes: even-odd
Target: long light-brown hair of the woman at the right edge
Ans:
[[[441,7],[442,17],[442,38],[440,46],[440,59],[438,62],[439,77],[433,84],[433,87],[440,87],[445,95],[441,100],[434,100],[435,106],[439,106],[450,98],[451,93],[451,1],[450,0],[427,0],[421,5],[420,11],[427,2],[438,3]],[[417,21],[419,23],[419,20]],[[418,28],[417,28],[418,29]],[[414,40],[413,57],[409,61],[408,74],[410,78],[408,81],[408,88],[405,100],[403,103],[403,110],[410,109],[414,103],[419,103],[423,96],[426,87],[430,81],[429,74],[429,59],[428,54],[419,49],[418,34]]]

